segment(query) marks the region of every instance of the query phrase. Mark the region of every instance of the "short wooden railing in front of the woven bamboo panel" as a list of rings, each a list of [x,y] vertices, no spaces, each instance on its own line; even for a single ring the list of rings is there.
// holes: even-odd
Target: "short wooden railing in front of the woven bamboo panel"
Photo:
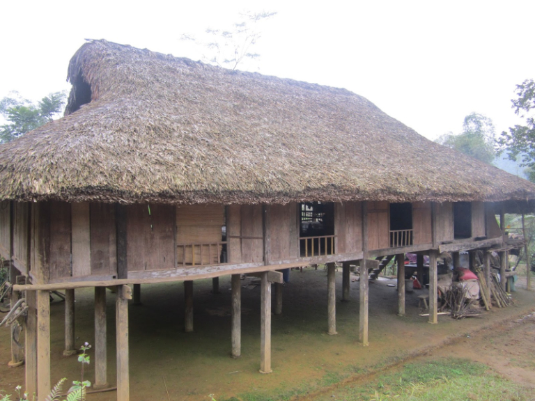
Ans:
[[[226,241],[211,242],[209,244],[197,242],[194,244],[178,244],[178,266],[220,265],[226,263]]]

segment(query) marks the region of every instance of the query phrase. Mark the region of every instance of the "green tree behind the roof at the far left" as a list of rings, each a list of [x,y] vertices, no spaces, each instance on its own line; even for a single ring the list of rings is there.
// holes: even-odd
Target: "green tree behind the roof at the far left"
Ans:
[[[23,99],[17,92],[0,100],[0,114],[8,123],[0,125],[0,143],[12,141],[26,132],[52,121],[61,112],[67,95],[50,93],[39,102]]]

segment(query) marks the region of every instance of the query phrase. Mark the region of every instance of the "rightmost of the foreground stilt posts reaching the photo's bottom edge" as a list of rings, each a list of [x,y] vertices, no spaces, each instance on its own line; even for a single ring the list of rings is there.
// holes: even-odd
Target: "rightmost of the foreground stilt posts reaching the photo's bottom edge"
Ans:
[[[127,285],[117,286],[115,304],[117,347],[117,401],[130,400],[130,372],[128,365],[128,299],[132,290]]]

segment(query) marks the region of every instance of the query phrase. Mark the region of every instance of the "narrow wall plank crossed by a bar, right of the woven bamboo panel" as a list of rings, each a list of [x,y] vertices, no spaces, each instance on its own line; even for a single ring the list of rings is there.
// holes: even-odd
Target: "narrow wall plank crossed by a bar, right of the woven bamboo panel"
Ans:
[[[241,206],[242,263],[262,262],[262,205]]]

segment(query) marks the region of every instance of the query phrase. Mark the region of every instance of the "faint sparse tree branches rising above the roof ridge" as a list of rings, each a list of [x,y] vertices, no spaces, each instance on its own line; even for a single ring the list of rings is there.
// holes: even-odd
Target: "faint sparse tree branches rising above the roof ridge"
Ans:
[[[261,22],[276,14],[267,11],[240,13],[240,21],[235,22],[231,29],[208,28],[203,39],[183,35],[182,40],[191,40],[208,49],[209,54],[203,56],[204,61],[235,70],[245,59],[255,60],[260,57],[260,54],[254,52],[254,47],[262,36]]]

